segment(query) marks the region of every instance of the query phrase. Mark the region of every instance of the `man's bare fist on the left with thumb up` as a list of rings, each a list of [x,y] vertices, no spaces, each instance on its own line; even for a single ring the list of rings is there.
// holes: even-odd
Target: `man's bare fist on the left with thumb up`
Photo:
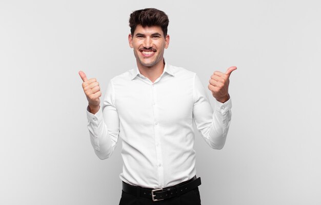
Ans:
[[[79,71],[79,75],[84,81],[83,89],[88,100],[90,112],[95,114],[98,112],[101,104],[101,100],[99,99],[99,97],[102,96],[101,87],[99,87],[96,78],[87,79],[87,76],[83,71]]]

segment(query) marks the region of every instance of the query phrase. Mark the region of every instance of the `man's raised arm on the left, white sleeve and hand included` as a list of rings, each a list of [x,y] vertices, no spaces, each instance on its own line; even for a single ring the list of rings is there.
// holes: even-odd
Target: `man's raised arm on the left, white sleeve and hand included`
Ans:
[[[83,89],[88,100],[87,118],[90,141],[95,154],[99,159],[106,159],[113,153],[119,136],[119,117],[114,106],[113,87],[111,81],[108,84],[100,107],[101,91],[95,78],[87,79],[86,74],[79,71],[83,79]]]

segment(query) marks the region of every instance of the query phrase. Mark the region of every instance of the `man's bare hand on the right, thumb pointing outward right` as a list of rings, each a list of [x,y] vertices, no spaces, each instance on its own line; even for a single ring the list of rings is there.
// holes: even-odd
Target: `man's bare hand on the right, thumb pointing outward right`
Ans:
[[[210,79],[208,89],[212,91],[213,97],[220,103],[225,103],[230,99],[229,95],[229,77],[232,71],[236,70],[235,66],[227,69],[226,73],[215,71]]]

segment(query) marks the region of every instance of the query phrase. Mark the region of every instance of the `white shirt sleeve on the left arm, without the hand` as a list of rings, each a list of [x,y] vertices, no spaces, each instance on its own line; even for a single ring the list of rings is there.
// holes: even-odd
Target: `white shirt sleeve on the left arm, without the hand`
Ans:
[[[103,99],[103,106],[96,114],[88,111],[88,130],[91,145],[99,159],[106,159],[113,153],[119,135],[119,117],[115,107],[112,81],[109,82]]]

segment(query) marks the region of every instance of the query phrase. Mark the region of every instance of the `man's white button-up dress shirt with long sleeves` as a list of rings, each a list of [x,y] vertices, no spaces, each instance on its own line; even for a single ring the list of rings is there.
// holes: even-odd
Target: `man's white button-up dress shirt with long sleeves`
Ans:
[[[213,149],[222,149],[231,121],[231,99],[214,101],[214,112],[196,73],[165,63],[152,83],[138,68],[112,78],[103,106],[87,110],[91,144],[100,159],[123,139],[126,183],[165,188],[196,174],[193,121]],[[209,159],[210,160],[210,159]]]

